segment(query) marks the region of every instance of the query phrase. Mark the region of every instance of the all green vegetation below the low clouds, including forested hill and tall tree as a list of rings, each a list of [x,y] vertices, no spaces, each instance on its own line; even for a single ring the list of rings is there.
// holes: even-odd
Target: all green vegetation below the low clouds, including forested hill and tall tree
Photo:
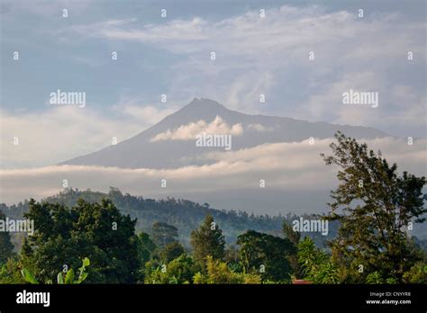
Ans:
[[[290,215],[144,200],[114,188],[68,190],[2,207],[9,217],[34,220],[36,230],[18,253],[10,234],[0,233],[0,282],[426,283],[425,251],[410,235],[413,223],[424,221],[425,178],[399,175],[365,144],[336,138],[333,155],[323,156],[340,167],[323,216],[332,221],[327,240],[295,231]]]

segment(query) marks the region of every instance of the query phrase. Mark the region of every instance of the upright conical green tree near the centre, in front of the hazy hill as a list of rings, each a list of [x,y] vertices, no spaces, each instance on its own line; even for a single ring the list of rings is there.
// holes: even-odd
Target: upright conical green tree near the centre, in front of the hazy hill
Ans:
[[[223,259],[225,239],[223,230],[207,215],[200,227],[191,232],[190,244],[193,246],[195,262],[204,263],[204,258],[211,255],[213,259]]]

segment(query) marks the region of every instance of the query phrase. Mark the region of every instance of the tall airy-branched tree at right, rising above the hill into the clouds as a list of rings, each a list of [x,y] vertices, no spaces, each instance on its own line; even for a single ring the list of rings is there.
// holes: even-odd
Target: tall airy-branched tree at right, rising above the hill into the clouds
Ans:
[[[341,132],[335,138],[333,155],[321,155],[326,165],[341,167],[340,184],[328,203],[328,218],[341,223],[331,243],[333,261],[345,282],[365,282],[370,273],[370,280],[378,276],[385,282],[403,282],[404,273],[422,260],[404,228],[424,221],[425,177],[399,175],[397,165],[389,165],[381,151],[368,150],[366,143]]]

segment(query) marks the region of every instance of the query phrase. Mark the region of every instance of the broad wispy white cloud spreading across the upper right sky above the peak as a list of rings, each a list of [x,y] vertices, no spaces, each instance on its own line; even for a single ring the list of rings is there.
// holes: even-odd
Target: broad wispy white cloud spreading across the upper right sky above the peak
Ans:
[[[274,103],[286,116],[344,124],[366,121],[390,131],[404,115],[406,128],[422,130],[424,88],[412,87],[404,97],[417,101],[402,105],[394,90],[398,85],[409,87],[413,78],[398,70],[391,73],[390,68],[410,66],[408,50],[415,56],[413,70],[425,68],[425,22],[412,22],[401,13],[370,13],[363,19],[357,13],[284,5],[268,9],[265,18],[256,10],[213,22],[201,17],[160,24],[106,21],[72,30],[107,40],[144,42],[181,55],[168,94],[184,91],[245,112],[265,110],[259,94],[266,94],[268,105]],[[310,51],[313,61],[308,60]],[[350,110],[351,115],[341,108],[331,110],[344,85],[381,87],[388,93],[381,118],[367,111]]]

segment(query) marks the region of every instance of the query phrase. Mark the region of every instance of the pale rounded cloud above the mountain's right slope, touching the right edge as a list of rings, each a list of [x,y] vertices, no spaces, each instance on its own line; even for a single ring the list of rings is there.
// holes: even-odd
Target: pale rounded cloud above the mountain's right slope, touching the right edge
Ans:
[[[360,92],[378,93],[378,106],[345,105],[342,94],[350,89]],[[417,131],[407,128],[411,125],[417,130],[425,130],[425,103],[427,94],[422,94],[411,85],[389,85],[378,79],[372,71],[350,73],[323,93],[313,94],[309,100],[302,103],[295,114],[298,118],[311,121],[331,121],[337,124],[370,126],[386,130],[392,134],[419,137]]]

